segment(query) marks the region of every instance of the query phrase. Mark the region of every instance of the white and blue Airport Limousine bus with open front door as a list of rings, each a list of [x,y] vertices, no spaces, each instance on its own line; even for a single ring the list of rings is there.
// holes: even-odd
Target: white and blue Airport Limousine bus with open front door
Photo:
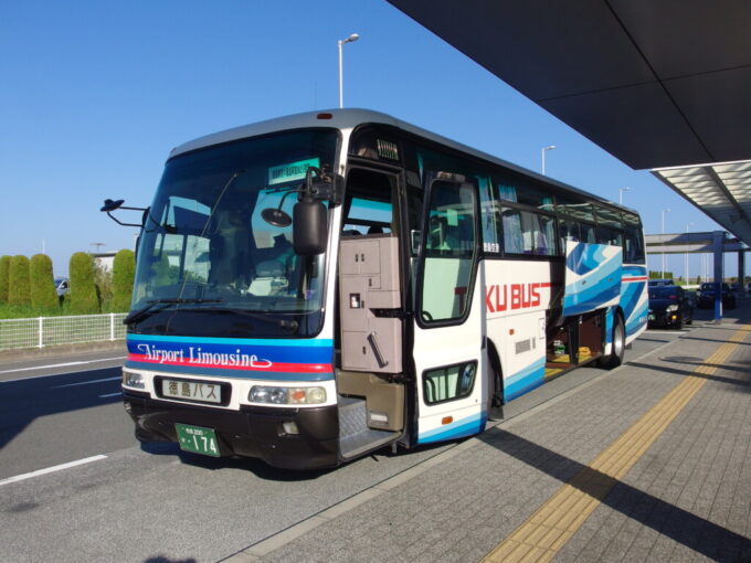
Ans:
[[[455,439],[618,365],[646,280],[634,211],[390,116],[239,127],[173,149],[144,213],[125,408],[285,468]]]

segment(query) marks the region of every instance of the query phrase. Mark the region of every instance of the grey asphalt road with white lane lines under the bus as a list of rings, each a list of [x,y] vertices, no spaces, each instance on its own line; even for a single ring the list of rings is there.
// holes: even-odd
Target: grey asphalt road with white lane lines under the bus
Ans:
[[[647,331],[626,360],[689,331]],[[218,561],[455,446],[314,472],[141,447],[118,396],[117,357],[0,363],[0,561]],[[87,363],[60,365],[74,361]],[[602,374],[575,370],[505,415]]]

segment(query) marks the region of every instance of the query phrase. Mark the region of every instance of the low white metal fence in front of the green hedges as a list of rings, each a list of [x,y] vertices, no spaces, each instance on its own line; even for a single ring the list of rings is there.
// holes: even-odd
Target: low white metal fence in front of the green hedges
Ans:
[[[125,339],[125,312],[0,320],[0,350]]]

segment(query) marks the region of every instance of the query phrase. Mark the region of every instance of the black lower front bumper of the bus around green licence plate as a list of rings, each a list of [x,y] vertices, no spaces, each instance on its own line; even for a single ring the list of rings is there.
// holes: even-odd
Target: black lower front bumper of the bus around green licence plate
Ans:
[[[123,390],[126,412],[141,442],[178,442],[176,423],[212,428],[222,456],[263,459],[286,469],[317,469],[339,464],[339,419],[336,405],[314,408],[244,406],[228,411],[154,400]],[[295,422],[299,434],[282,424]]]

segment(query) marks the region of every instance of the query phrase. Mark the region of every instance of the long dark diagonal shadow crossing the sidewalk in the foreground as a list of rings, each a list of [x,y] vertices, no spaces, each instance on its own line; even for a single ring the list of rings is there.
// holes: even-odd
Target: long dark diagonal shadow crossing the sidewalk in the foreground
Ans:
[[[715,561],[751,561],[751,540],[510,432],[478,439]],[[580,477],[572,481],[573,477]],[[603,497],[603,482],[610,485]],[[593,484],[592,487],[589,484]]]

